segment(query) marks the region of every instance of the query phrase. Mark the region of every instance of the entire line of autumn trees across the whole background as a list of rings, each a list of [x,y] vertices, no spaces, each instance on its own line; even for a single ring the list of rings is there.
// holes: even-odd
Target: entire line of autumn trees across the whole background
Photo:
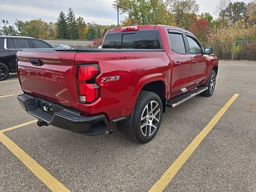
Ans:
[[[256,39],[256,0],[249,3],[219,0],[215,17],[210,13],[198,14],[200,4],[196,0],[114,0],[113,8],[122,5],[120,14],[127,16],[122,26],[134,24],[165,24],[191,31],[201,42],[219,42]],[[60,12],[56,22],[32,19],[16,20],[8,26],[1,20],[0,34],[31,36],[34,38],[87,39],[104,36],[116,25],[100,25],[85,22],[76,17],[72,8]]]

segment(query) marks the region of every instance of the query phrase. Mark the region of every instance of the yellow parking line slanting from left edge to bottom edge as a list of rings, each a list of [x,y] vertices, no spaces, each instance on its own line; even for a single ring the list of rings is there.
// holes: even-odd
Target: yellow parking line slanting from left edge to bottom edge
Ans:
[[[40,164],[32,159],[18,145],[0,132],[0,141],[30,169],[53,192],[68,192],[69,190],[46,171]]]

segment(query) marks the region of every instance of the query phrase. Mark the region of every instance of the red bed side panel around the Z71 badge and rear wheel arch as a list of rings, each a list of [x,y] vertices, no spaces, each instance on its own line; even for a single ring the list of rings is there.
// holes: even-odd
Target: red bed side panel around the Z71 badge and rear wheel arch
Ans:
[[[141,88],[156,80],[170,83],[170,60],[164,51],[156,52],[78,52],[76,65],[100,65],[96,82],[100,98],[92,104],[79,104],[84,114],[105,113],[109,120],[132,113]],[[102,82],[104,77],[120,76],[119,80]],[[168,86],[166,86],[168,87]]]

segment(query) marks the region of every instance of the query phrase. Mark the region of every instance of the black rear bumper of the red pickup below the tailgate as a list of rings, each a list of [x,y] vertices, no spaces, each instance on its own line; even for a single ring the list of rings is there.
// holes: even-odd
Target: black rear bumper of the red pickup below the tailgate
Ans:
[[[22,108],[38,118],[39,122],[89,136],[113,132],[108,128],[105,115],[83,116],[76,110],[29,94],[19,94],[17,98]],[[47,106],[50,106],[48,111],[46,111]],[[38,123],[38,125],[44,123]]]

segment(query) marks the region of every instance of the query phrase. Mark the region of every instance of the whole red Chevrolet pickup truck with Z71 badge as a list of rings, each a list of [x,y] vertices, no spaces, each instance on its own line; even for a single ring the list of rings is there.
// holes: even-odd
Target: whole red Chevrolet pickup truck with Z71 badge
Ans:
[[[115,28],[102,49],[33,49],[17,53],[21,106],[53,125],[95,136],[132,140],[156,135],[166,107],[214,92],[218,59],[189,31],[163,25]]]

